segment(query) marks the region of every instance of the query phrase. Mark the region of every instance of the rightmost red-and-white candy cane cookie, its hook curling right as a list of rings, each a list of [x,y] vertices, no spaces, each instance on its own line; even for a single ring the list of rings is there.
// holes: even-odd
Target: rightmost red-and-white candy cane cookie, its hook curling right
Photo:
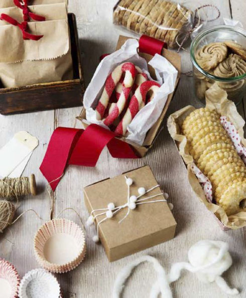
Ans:
[[[115,129],[115,133],[122,136],[126,135],[128,125],[132,122],[138,111],[144,107],[147,93],[152,91],[155,94],[159,88],[160,84],[154,81],[146,81],[138,87],[134,96],[130,100],[126,114]]]

